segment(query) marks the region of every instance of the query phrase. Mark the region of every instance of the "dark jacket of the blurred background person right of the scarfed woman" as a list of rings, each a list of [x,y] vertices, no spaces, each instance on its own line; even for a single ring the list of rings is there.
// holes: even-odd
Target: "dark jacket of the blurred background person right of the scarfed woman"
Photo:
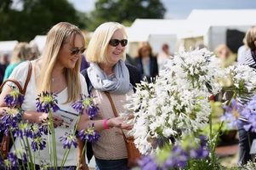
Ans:
[[[136,66],[139,69],[139,72],[142,75],[142,78],[144,78],[145,74],[143,71],[142,57],[139,56],[136,59]],[[158,75],[157,59],[156,57],[150,56],[150,77],[146,77],[146,79],[148,82],[151,82],[151,77],[156,77],[157,75]]]

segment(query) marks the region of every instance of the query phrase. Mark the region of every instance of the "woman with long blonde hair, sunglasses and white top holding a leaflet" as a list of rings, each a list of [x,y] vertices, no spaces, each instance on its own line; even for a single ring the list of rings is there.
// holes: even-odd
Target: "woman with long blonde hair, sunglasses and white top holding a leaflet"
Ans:
[[[74,119],[73,122],[77,122],[78,113],[71,107],[71,104],[77,99],[80,99],[80,94],[88,94],[84,78],[79,72],[81,54],[84,52],[84,49],[82,32],[77,26],[60,22],[48,31],[43,56],[40,59],[31,61],[32,74],[22,105],[22,109],[25,111],[22,118],[28,122],[34,123],[42,123],[47,120],[47,113],[36,111],[37,94],[41,94],[43,91],[57,94],[56,99],[61,109],[61,111],[54,113],[54,131],[58,156],[57,166],[60,166],[65,154],[63,144],[60,142],[60,137],[64,136],[66,132],[69,133],[75,126],[73,123],[71,123],[70,127],[61,126],[63,119],[60,115],[69,116]],[[27,72],[28,63],[24,62],[14,69],[10,78],[17,80],[24,86]],[[6,94],[9,94],[10,90],[11,88],[6,86],[3,89],[3,93],[0,95],[2,114],[3,109],[6,107],[3,99]],[[69,115],[69,112],[74,113],[74,116]],[[48,137],[46,136],[44,138],[47,139]],[[15,141],[15,146],[17,150],[22,149],[18,139]],[[12,150],[14,150],[14,148],[12,148]],[[18,155],[18,157],[19,156],[20,155]],[[40,156],[41,157],[38,156],[37,152],[35,153],[34,163],[37,165],[37,169],[40,168],[40,160],[49,164],[51,159],[53,159],[49,156],[48,143],[46,144],[46,148],[40,151]],[[21,159],[21,157],[19,157],[19,159]],[[77,149],[71,147],[64,167],[74,169],[76,166]]]

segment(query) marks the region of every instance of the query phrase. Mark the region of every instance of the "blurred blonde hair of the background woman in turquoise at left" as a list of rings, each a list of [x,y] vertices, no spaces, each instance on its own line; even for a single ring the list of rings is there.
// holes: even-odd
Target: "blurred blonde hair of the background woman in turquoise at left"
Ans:
[[[27,42],[20,42],[14,47],[10,63],[19,63],[23,60],[31,59],[32,50]]]

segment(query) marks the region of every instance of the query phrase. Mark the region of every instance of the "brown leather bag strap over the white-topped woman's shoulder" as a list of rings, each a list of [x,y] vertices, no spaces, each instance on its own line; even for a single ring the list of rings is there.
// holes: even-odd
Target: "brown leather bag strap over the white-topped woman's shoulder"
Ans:
[[[27,88],[27,84],[28,82],[30,81],[31,79],[31,73],[32,73],[32,65],[31,65],[31,62],[28,61],[29,63],[29,68],[28,68],[28,73],[27,73],[27,77],[26,77],[26,82],[25,82],[25,85],[24,85],[24,88],[22,89],[21,85],[20,85],[20,82],[14,80],[14,79],[7,79],[5,80],[2,85],[0,86],[0,91],[2,91],[3,89],[3,86],[6,84],[6,82],[14,82],[14,84],[17,86],[17,88],[19,89],[19,92],[20,94],[26,94],[26,88]]]

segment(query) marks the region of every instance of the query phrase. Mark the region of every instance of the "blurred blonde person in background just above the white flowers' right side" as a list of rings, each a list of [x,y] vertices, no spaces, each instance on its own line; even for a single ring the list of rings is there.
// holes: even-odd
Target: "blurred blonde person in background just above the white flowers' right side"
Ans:
[[[236,61],[236,56],[225,44],[219,44],[217,48],[214,49],[214,53],[221,59],[223,67],[233,65]]]

